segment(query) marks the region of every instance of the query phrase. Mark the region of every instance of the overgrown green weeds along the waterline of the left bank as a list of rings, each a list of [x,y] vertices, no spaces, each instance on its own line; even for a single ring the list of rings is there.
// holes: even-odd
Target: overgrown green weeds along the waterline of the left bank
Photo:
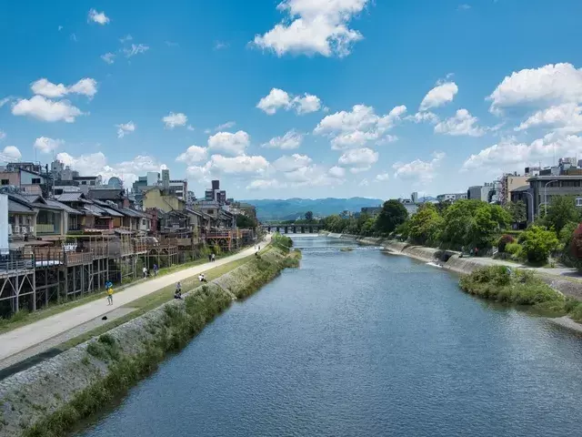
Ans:
[[[282,243],[282,240],[278,243]],[[245,298],[260,289],[282,269],[298,266],[300,252],[290,253],[289,247],[285,250],[285,245],[282,245],[282,248],[277,246],[278,244],[272,249],[266,249],[266,252],[274,250],[283,252],[286,256],[267,259],[265,252],[259,257],[253,256],[255,259],[247,262],[246,269],[252,274],[244,276],[245,284],[238,284],[237,298]],[[166,304],[163,307],[164,316],[161,323],[152,323],[147,328],[148,332],[152,333],[152,340],[144,340],[141,351],[133,356],[124,355],[117,340],[112,335],[104,333],[87,346],[84,365],[95,365],[93,363],[95,360],[105,362],[108,365],[107,375],[77,393],[64,407],[27,427],[22,435],[24,437],[63,435],[75,426],[75,423],[100,411],[109,402],[123,396],[137,381],[155,371],[167,353],[185,347],[206,323],[226,310],[231,302],[231,297],[225,290],[209,283],[190,292],[183,302]]]

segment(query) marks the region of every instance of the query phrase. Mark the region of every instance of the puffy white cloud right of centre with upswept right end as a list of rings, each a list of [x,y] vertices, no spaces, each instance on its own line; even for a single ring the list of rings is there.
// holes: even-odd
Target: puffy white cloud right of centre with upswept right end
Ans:
[[[382,139],[404,114],[405,106],[394,107],[386,116],[379,117],[373,107],[355,105],[350,112],[340,111],[324,117],[314,133],[330,137],[332,148],[336,150],[362,147],[368,141]]]

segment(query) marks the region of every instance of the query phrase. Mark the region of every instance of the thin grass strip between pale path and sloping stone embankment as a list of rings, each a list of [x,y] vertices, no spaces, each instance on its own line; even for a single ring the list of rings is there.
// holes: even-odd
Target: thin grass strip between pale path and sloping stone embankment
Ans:
[[[242,266],[243,264],[246,264],[246,262],[254,258],[255,258],[254,255],[250,255],[248,257],[236,259],[227,264],[223,264],[222,266],[215,267],[214,269],[208,269],[205,271],[206,280],[208,281],[214,280],[224,275],[225,273],[228,273],[229,271],[234,270],[237,267]],[[181,282],[182,290],[184,292],[195,289],[200,285],[198,275],[182,280]],[[154,291],[153,293],[150,293],[144,296],[143,298],[134,300],[122,307],[122,308],[133,308],[135,309],[134,311],[125,314],[124,316],[118,319],[111,320],[101,325],[100,327],[95,328],[94,330],[88,330],[83,334],[79,335],[78,337],[75,337],[74,339],[67,340],[56,346],[55,349],[58,349],[59,351],[66,351],[67,349],[74,348],[76,345],[84,343],[86,340],[91,340],[92,338],[97,337],[98,335],[101,335],[107,332],[108,330],[113,330],[115,327],[123,325],[126,321],[133,320],[136,317],[142,316],[146,314],[147,311],[154,310],[160,305],[163,305],[164,303],[173,300],[175,290],[176,285],[174,284],[168,285],[167,287]]]

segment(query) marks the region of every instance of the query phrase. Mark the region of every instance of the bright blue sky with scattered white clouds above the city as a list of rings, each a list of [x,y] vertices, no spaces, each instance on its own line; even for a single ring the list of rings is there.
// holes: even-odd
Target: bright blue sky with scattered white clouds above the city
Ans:
[[[34,5],[35,4],[35,5]],[[408,197],[582,158],[579,0],[2,2],[0,160]]]

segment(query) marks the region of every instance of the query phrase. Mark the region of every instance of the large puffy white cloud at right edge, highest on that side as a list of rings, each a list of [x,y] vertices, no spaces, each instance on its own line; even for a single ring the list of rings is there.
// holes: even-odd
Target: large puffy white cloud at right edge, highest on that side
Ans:
[[[504,107],[582,102],[582,69],[571,64],[526,68],[506,76],[491,93],[490,111]]]

